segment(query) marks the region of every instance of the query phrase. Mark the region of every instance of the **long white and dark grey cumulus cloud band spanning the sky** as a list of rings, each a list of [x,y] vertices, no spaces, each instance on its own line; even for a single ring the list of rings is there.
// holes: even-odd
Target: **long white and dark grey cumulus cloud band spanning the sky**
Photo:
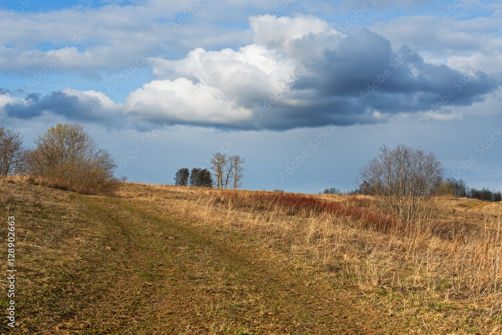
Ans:
[[[252,42],[237,50],[195,48],[179,60],[150,57],[158,79],[124,103],[101,92],[66,89],[4,110],[24,118],[51,111],[96,122],[123,114],[173,124],[290,129],[385,122],[398,113],[448,121],[460,117],[456,106],[482,101],[498,87],[479,69],[428,63],[414,44],[393,48],[367,29],[345,36],[317,17],[271,15],[251,17],[250,27]]]

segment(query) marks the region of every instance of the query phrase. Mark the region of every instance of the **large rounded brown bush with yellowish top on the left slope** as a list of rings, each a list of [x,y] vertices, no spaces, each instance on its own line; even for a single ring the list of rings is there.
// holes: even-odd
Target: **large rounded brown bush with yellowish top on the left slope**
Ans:
[[[111,195],[118,187],[110,154],[78,123],[58,123],[35,140],[27,172],[42,184],[84,194]]]

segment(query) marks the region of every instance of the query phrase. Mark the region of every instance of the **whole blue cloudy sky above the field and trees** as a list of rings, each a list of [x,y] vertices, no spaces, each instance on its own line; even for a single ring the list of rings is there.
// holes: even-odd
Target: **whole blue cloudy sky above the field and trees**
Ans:
[[[0,0],[0,125],[76,121],[117,176],[220,151],[249,190],[356,187],[385,144],[500,189],[502,2]]]

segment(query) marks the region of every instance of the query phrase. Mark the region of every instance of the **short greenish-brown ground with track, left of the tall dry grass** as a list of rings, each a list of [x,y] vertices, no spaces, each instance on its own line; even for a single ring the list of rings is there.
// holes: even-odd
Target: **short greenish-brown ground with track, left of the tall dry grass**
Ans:
[[[336,266],[297,268],[142,200],[23,188],[8,209],[24,239],[18,324],[4,333],[401,332]]]

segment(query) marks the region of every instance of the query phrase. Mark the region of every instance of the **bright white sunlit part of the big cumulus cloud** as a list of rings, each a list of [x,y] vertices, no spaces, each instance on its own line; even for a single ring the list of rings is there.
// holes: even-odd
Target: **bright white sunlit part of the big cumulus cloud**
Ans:
[[[235,51],[196,48],[181,60],[149,58],[159,78],[143,85],[127,98],[126,111],[137,118],[168,116],[177,121],[234,124],[256,118],[257,101],[274,93],[285,104],[298,105],[290,97],[292,77],[304,61],[318,57],[340,34],[313,17],[250,18],[254,43]],[[317,38],[316,48],[302,51],[305,37]]]

